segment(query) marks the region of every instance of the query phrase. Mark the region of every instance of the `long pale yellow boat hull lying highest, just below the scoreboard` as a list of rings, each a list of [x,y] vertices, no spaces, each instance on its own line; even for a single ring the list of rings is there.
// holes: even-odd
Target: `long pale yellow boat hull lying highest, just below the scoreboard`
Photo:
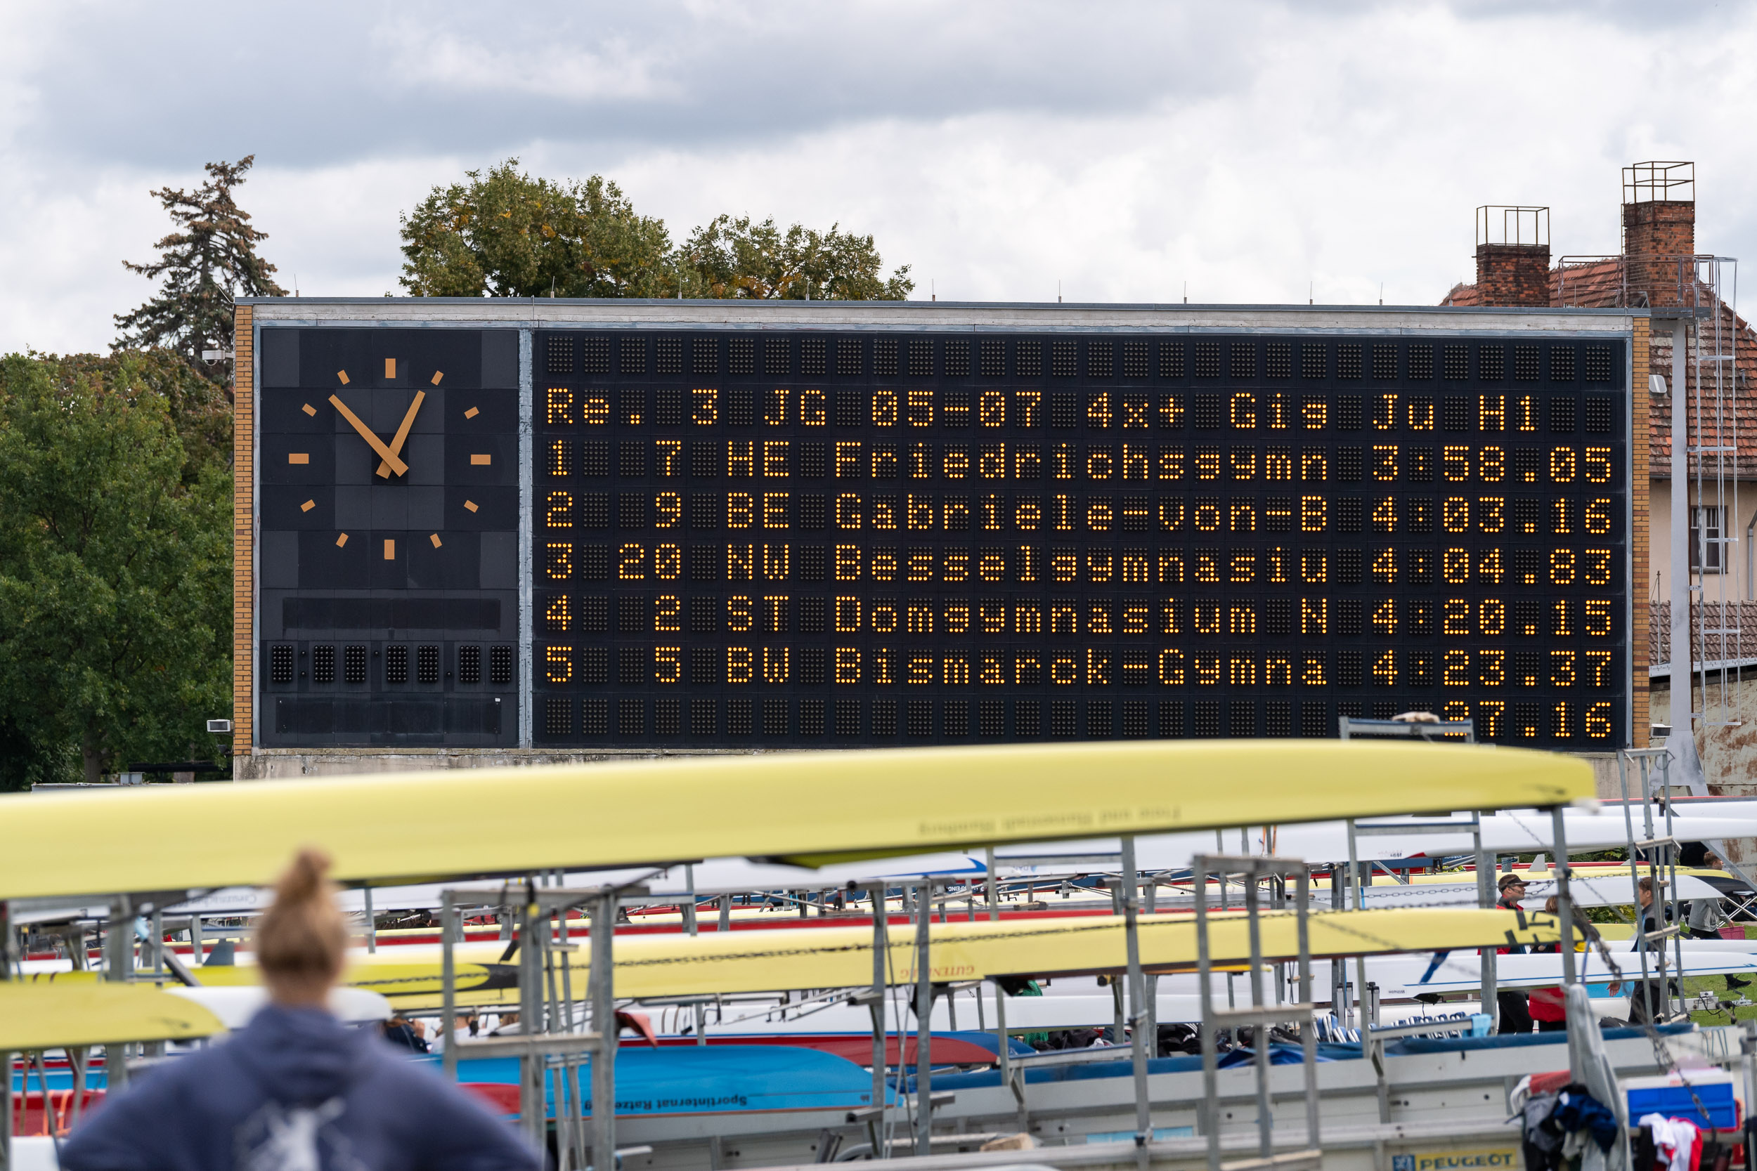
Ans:
[[[1014,841],[1592,797],[1573,757],[1474,744],[1146,741],[452,769],[0,797],[0,899],[267,885],[299,846],[339,881]],[[202,827],[199,851],[160,850]],[[383,832],[397,825],[399,832]],[[69,851],[65,843],[79,841]]]

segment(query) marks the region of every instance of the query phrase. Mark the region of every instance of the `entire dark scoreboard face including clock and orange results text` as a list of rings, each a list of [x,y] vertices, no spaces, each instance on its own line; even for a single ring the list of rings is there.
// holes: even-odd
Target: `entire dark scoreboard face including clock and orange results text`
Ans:
[[[258,739],[1625,744],[1627,335],[1448,325],[264,327]]]

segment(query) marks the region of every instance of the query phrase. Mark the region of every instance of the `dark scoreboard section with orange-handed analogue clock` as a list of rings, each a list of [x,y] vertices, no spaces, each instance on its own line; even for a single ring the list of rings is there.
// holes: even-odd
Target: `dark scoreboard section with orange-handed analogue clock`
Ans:
[[[265,327],[260,355],[262,744],[515,744],[518,332]]]

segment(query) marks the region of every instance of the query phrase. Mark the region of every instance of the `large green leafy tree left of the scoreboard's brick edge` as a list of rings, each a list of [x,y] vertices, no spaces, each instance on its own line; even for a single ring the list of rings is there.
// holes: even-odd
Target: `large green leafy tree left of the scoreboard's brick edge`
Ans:
[[[172,360],[0,358],[0,783],[216,750],[230,476],[153,386]]]

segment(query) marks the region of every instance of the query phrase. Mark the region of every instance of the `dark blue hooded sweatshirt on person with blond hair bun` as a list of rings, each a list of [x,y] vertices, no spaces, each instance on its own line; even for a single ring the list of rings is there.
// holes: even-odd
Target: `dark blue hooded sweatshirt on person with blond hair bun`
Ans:
[[[315,1008],[269,1004],[158,1066],[61,1148],[65,1171],[541,1171],[430,1067]]]

